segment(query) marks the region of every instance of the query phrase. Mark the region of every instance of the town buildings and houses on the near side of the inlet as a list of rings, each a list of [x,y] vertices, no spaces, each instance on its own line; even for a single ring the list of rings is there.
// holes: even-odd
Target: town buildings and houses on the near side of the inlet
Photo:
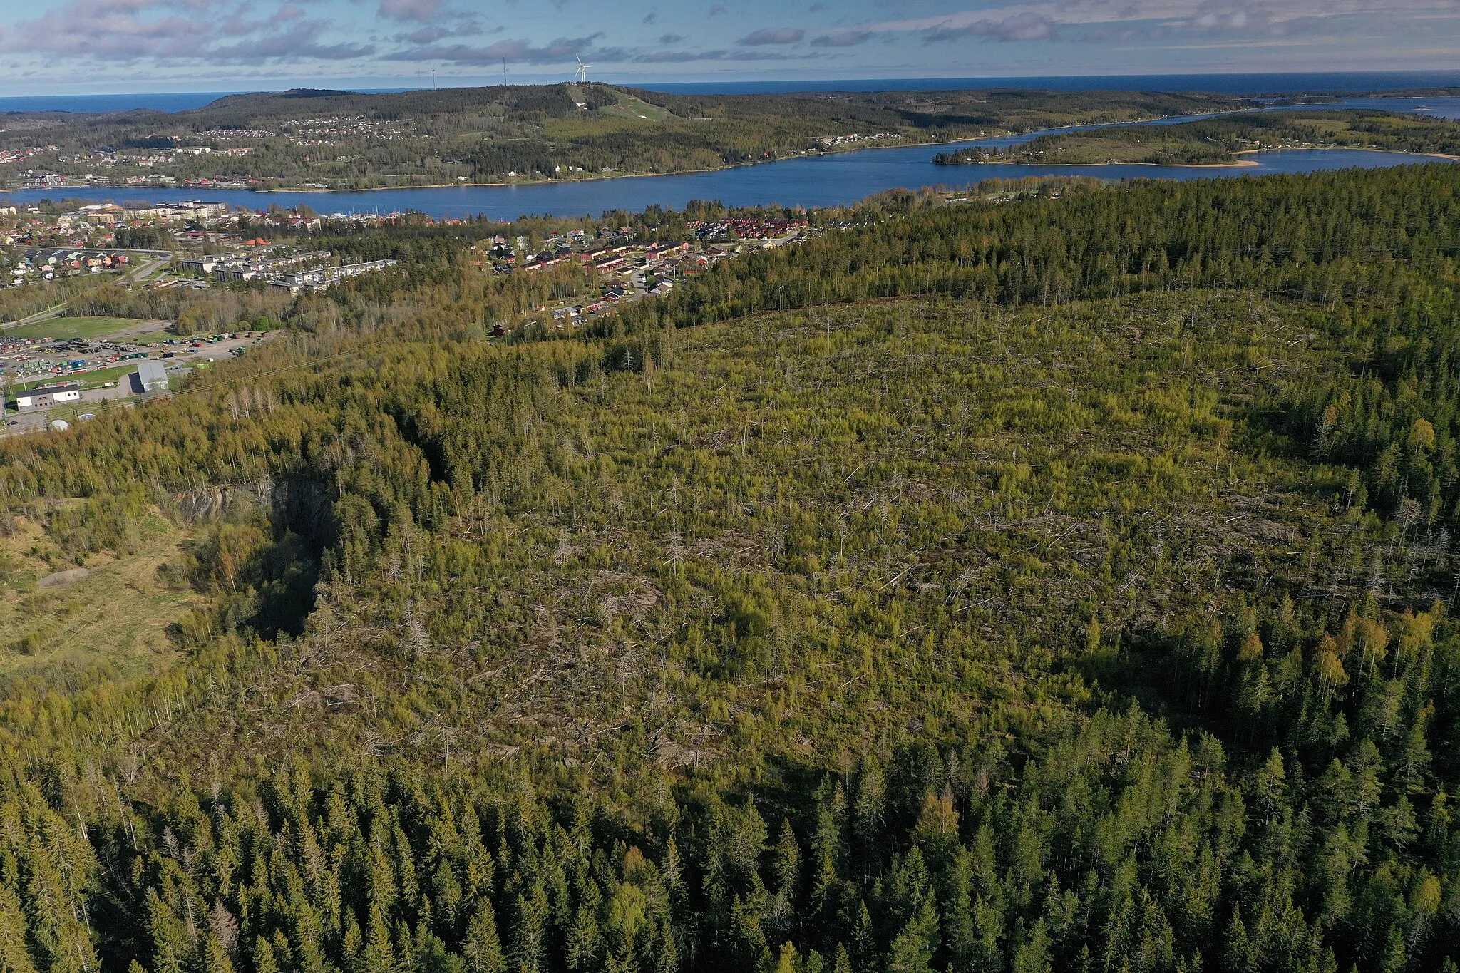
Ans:
[[[809,214],[723,213],[683,219],[670,236],[663,228],[591,225],[583,220],[533,225],[529,232],[492,232],[491,223],[466,242],[469,263],[492,276],[550,276],[553,298],[518,321],[492,322],[488,340],[536,321],[572,331],[585,321],[635,301],[673,293],[715,264],[759,249],[812,239],[847,223],[819,223]],[[277,331],[251,321],[193,333],[169,319],[85,317],[70,311],[77,293],[112,284],[121,292],[237,292],[239,296],[320,292],[365,274],[400,268],[396,258],[349,260],[314,244],[361,233],[437,226],[470,239],[470,223],[420,214],[320,214],[308,207],[242,210],[209,200],[171,204],[86,203],[0,206],[0,289],[18,296],[45,287],[70,295],[15,305],[0,322],[0,384],[6,413],[0,435],[85,422],[98,407],[131,407],[162,395],[200,369],[244,354]],[[511,225],[496,225],[511,230]],[[556,276],[553,276],[556,274]],[[76,290],[82,287],[82,290]],[[61,292],[57,292],[58,295]],[[39,306],[47,305],[47,306]],[[216,325],[215,325],[216,327]],[[225,325],[226,327],[226,325]]]

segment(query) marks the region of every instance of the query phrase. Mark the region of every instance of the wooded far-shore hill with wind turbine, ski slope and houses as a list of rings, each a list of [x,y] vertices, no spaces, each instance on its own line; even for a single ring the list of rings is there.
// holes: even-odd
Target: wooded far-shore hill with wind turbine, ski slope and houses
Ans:
[[[860,147],[875,134],[880,144],[918,144],[1245,105],[1225,95],[1018,89],[688,96],[599,83],[266,92],[175,114],[6,114],[0,149],[36,152],[0,166],[0,179],[31,169],[91,172],[118,187],[171,175],[260,190],[587,179]],[[223,150],[245,155],[213,155]]]

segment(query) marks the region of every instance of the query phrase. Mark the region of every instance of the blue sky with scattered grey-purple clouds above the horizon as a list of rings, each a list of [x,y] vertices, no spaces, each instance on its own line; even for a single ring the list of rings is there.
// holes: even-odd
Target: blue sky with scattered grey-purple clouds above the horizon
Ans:
[[[0,0],[0,95],[1447,70],[1460,0]]]

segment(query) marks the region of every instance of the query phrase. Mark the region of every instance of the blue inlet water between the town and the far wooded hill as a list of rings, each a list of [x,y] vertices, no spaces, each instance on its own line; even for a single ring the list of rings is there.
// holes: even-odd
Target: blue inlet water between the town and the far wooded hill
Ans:
[[[1342,106],[1383,106],[1391,111],[1431,109],[1435,117],[1460,118],[1460,98],[1431,99],[1355,99]],[[1183,118],[1164,120],[1174,124]],[[977,144],[1007,146],[1032,133],[1016,139],[990,139]],[[974,144],[974,143],[959,143]],[[145,200],[152,203],[181,200],[219,200],[242,209],[264,209],[269,204],[285,207],[307,203],[321,213],[391,213],[416,210],[434,217],[486,216],[493,220],[511,220],[523,214],[550,213],[556,216],[594,216],[607,210],[638,212],[658,204],[683,209],[691,200],[720,200],[727,206],[844,206],[866,198],[875,193],[894,188],[915,190],[921,187],[946,185],[961,188],[990,178],[1018,178],[1026,175],[1091,175],[1102,179],[1210,179],[1231,177],[1269,175],[1278,172],[1317,172],[1324,169],[1387,168],[1435,162],[1424,156],[1364,152],[1348,149],[1313,149],[1289,152],[1263,152],[1256,156],[1254,166],[1200,168],[1200,166],[1145,166],[1145,165],[1094,165],[1094,166],[1034,166],[1034,165],[967,165],[937,166],[933,156],[950,146],[911,146],[907,149],[866,149],[829,156],[807,156],[762,165],[696,172],[689,175],[631,177],[619,179],[596,179],[587,182],[550,182],[534,185],[502,187],[447,187],[431,190],[375,190],[366,193],[248,193],[206,190],[20,190],[0,194],[15,203],[31,203],[41,198],[88,198],[88,200]]]

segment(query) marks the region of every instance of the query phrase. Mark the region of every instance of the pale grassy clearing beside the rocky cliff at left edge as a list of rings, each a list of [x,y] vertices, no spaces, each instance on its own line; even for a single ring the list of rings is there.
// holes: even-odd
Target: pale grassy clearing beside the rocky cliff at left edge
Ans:
[[[110,665],[143,672],[174,654],[166,629],[203,604],[158,582],[188,534],[152,515],[127,554],[76,565],[39,524],[15,518],[0,537],[0,677]]]

